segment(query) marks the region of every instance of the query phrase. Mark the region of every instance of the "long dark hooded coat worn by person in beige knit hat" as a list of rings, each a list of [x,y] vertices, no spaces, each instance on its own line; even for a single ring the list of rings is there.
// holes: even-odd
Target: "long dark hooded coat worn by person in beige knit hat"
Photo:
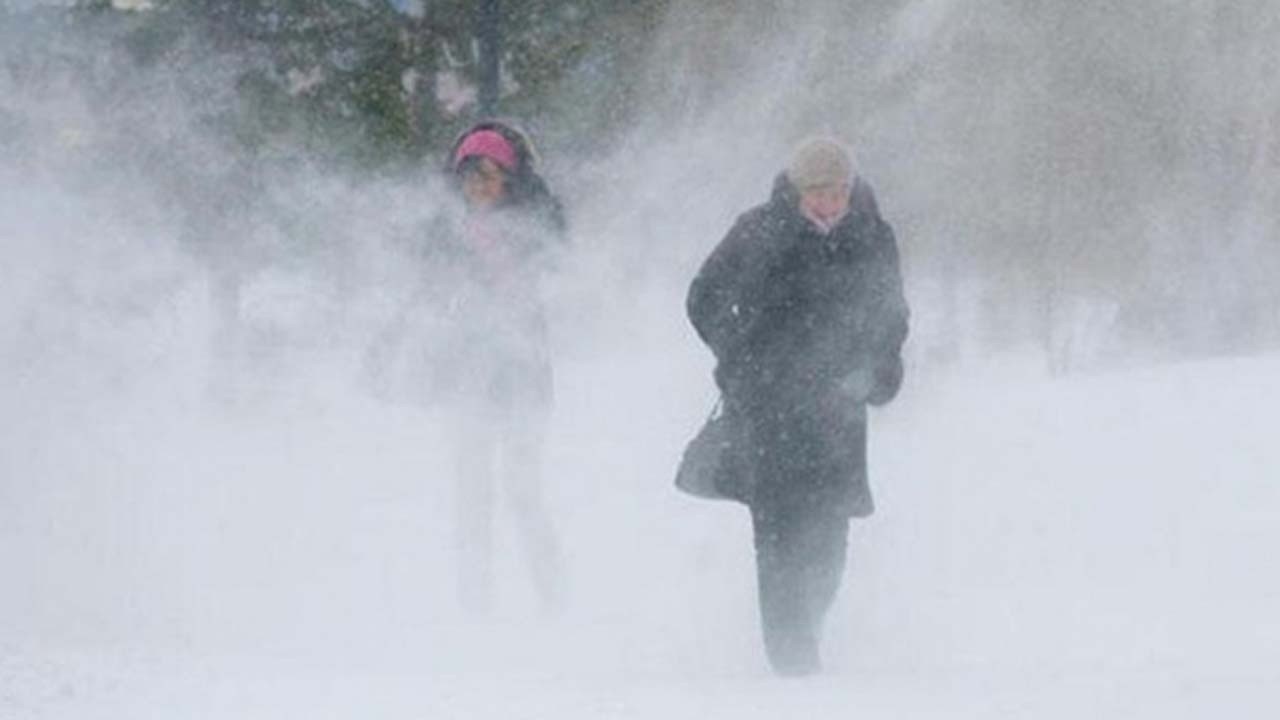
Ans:
[[[689,316],[716,355],[716,382],[739,443],[749,503],[873,511],[867,404],[893,398],[908,332],[899,252],[870,187],[823,233],[780,177],[744,213],[689,290]]]

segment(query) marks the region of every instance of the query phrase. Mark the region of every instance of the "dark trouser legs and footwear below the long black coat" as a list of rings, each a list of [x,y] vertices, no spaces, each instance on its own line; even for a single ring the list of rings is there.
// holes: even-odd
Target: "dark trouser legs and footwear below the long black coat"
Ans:
[[[751,506],[760,624],[780,675],[820,669],[822,621],[845,570],[849,518],[803,506]]]

